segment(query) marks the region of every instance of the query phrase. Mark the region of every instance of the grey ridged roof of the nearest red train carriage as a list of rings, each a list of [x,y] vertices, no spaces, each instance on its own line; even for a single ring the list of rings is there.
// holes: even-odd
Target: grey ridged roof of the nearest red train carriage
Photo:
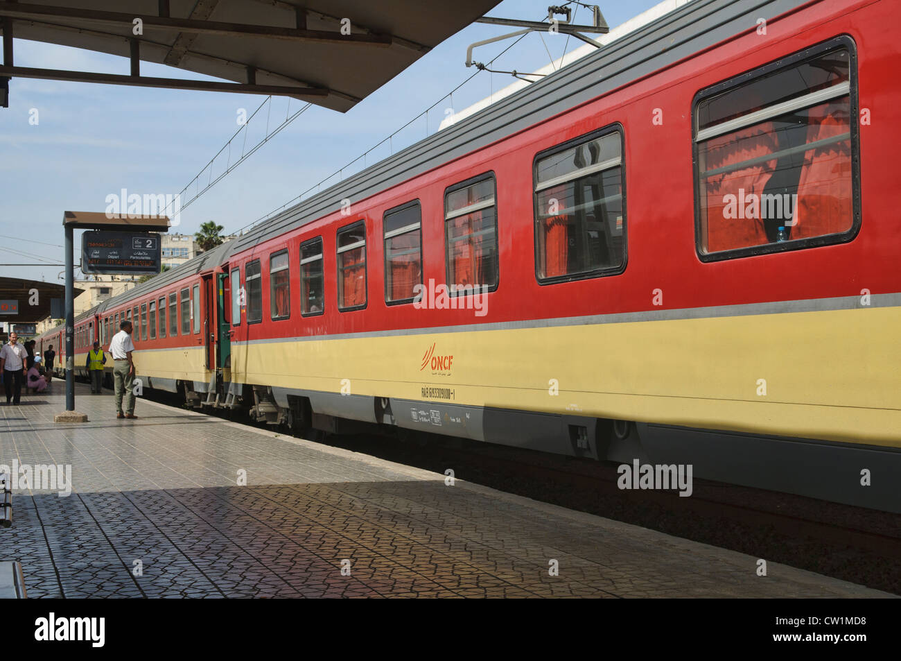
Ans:
[[[807,0],[693,0],[309,197],[235,240],[245,250],[756,27]]]

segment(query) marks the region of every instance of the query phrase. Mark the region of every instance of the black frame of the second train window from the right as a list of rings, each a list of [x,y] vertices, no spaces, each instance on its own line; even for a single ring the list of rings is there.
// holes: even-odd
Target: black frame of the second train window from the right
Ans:
[[[538,163],[543,159],[548,158],[549,156],[553,156],[556,153],[560,153],[561,151],[569,151],[573,147],[577,147],[580,144],[586,144],[587,142],[592,142],[597,140],[598,138],[603,138],[606,135],[618,134],[620,138],[620,157],[619,164],[614,165],[611,168],[604,168],[596,171],[604,171],[604,170],[612,170],[614,167],[619,167],[622,170],[622,176],[620,178],[620,183],[622,186],[622,193],[620,197],[622,198],[622,207],[623,207],[623,262],[616,266],[610,266],[600,269],[593,269],[591,271],[581,271],[578,273],[568,273],[565,275],[552,276],[550,278],[542,278],[541,276],[541,255],[539,252],[539,246],[541,245],[539,240],[539,223],[538,223],[538,195],[541,192],[539,190],[539,182],[538,182]],[[555,144],[548,149],[544,149],[542,151],[537,152],[532,158],[532,242],[533,245],[533,253],[534,253],[534,274],[535,280],[542,287],[545,285],[555,285],[560,284],[561,282],[574,282],[577,280],[593,280],[595,278],[608,278],[611,276],[621,275],[626,270],[626,267],[629,264],[629,212],[627,206],[627,184],[626,184],[626,144],[625,144],[625,129],[623,128],[623,124],[620,122],[613,122],[611,124],[605,124],[600,128],[591,131],[590,133],[583,133],[582,135],[578,135],[575,138],[571,138],[566,142],[560,142],[560,144]],[[587,176],[589,174],[594,174],[594,172],[587,172],[583,176]],[[565,179],[560,183],[568,183],[569,181],[574,181],[578,179],[578,177],[572,177],[570,179]],[[542,190],[544,188],[548,188],[548,182],[544,182],[542,186]],[[499,246],[498,246],[499,252]]]

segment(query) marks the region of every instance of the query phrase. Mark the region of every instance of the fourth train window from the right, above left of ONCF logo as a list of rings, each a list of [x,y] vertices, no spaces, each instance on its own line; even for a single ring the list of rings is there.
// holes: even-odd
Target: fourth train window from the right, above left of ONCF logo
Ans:
[[[385,302],[408,303],[423,283],[422,208],[419,200],[385,213]]]

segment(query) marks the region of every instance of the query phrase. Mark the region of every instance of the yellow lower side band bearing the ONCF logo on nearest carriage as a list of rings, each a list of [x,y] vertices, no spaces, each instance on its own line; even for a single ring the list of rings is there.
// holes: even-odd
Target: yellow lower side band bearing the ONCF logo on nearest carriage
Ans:
[[[863,308],[264,342],[232,346],[232,378],[901,446],[899,328]]]

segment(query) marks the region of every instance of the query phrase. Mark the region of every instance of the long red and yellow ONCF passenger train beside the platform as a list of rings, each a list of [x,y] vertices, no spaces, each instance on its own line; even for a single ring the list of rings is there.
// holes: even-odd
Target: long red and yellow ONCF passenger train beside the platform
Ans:
[[[130,318],[149,387],[296,433],[901,511],[895,14],[685,5],[106,301],[76,367]]]

